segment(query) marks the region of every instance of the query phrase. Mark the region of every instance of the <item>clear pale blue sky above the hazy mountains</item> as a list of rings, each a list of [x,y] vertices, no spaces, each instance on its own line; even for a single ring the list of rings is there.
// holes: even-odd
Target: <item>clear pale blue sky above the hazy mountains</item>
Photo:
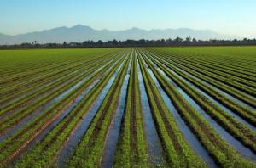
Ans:
[[[193,28],[256,37],[256,0],[0,0],[0,32]]]

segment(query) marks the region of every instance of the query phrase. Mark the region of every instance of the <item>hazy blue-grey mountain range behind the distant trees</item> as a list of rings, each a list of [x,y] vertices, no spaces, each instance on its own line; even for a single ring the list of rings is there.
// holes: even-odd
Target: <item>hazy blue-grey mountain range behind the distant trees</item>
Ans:
[[[75,25],[73,27],[58,27],[46,31],[37,31],[26,34],[9,36],[0,34],[0,44],[17,44],[22,42],[37,41],[38,43],[46,42],[84,42],[85,40],[127,40],[127,39],[167,39],[176,38],[177,36],[185,38],[187,36],[195,37],[196,39],[227,39],[230,36],[220,35],[215,31],[209,30],[192,30],[187,28],[181,29],[166,29],[166,30],[150,30],[146,31],[138,28],[131,28],[125,31],[108,31],[95,30],[89,26]]]

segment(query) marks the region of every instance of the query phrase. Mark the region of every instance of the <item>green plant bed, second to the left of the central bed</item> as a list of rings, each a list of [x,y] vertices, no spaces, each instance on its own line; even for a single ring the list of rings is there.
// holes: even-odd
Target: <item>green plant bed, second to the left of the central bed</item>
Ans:
[[[20,160],[17,160],[15,167],[55,166],[57,154],[67,142],[68,137],[72,136],[74,129],[79,127],[79,121],[86,117],[86,113],[94,104],[96,98],[102,92],[103,87],[108,83],[110,77],[113,76],[113,73],[118,69],[122,61],[124,59],[121,59],[118,64],[114,64],[113,67],[109,66],[104,69],[102,71],[104,75],[97,82],[96,86],[85,95],[70,114],[61,120],[37,146],[23,155]]]

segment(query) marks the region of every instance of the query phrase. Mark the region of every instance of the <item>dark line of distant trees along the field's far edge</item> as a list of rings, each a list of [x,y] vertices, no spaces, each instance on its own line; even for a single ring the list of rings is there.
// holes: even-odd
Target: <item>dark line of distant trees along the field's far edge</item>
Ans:
[[[241,40],[197,40],[187,37],[185,39],[177,37],[175,39],[161,40],[126,40],[126,41],[107,41],[101,40],[84,41],[84,42],[63,42],[63,43],[38,43],[26,42],[15,45],[0,45],[0,48],[124,48],[124,47],[178,47],[178,46],[243,46],[256,45],[256,39],[241,39]]]

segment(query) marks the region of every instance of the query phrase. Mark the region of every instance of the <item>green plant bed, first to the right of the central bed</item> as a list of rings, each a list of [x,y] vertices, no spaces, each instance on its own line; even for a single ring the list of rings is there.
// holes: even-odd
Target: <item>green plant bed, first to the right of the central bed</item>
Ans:
[[[138,52],[138,54],[149,105],[162,147],[166,154],[167,163],[170,167],[207,167],[206,163],[195,154],[195,151],[190,148],[189,143],[185,141],[182,132],[177,127],[175,119],[150,77],[141,53]]]

